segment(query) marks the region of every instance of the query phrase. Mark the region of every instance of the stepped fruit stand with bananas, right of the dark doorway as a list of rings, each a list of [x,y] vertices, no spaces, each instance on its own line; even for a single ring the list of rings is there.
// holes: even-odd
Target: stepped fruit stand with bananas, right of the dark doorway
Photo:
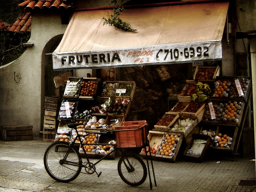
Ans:
[[[166,112],[177,117],[164,114],[148,134],[155,157],[174,162],[178,151],[183,150],[179,153],[184,158],[202,161],[209,148],[222,155],[237,154],[251,82],[250,78],[218,76],[219,70],[218,66],[197,67],[193,80],[186,81],[178,101]],[[178,136],[184,147],[167,150],[166,135]]]

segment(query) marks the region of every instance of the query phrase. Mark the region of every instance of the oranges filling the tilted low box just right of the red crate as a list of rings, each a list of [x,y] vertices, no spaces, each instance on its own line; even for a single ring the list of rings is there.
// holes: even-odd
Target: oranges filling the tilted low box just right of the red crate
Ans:
[[[166,134],[162,140],[162,144],[158,148],[157,154],[164,155],[164,156],[173,155],[178,141],[179,141],[178,135]]]

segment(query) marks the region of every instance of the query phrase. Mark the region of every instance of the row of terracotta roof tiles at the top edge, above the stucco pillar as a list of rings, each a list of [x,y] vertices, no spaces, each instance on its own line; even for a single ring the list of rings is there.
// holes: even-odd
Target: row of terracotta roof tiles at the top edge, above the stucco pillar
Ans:
[[[62,3],[63,0],[25,0],[19,4],[25,8],[26,11],[32,11],[36,9],[73,9],[72,6],[68,6]]]

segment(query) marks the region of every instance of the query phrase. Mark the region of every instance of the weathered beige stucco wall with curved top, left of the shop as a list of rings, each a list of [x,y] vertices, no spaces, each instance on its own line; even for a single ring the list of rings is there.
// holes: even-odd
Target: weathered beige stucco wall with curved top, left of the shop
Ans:
[[[27,48],[15,62],[0,69],[0,125],[29,124],[33,126],[33,135],[38,136],[41,96],[44,95],[42,51],[52,37],[65,32],[66,26],[61,25],[59,15],[32,15],[29,42],[34,46]]]

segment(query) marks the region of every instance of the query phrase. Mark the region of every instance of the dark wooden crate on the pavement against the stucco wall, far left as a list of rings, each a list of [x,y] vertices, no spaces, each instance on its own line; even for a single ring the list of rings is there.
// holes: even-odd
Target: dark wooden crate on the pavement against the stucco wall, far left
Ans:
[[[33,140],[32,125],[3,125],[2,139],[5,141]]]

